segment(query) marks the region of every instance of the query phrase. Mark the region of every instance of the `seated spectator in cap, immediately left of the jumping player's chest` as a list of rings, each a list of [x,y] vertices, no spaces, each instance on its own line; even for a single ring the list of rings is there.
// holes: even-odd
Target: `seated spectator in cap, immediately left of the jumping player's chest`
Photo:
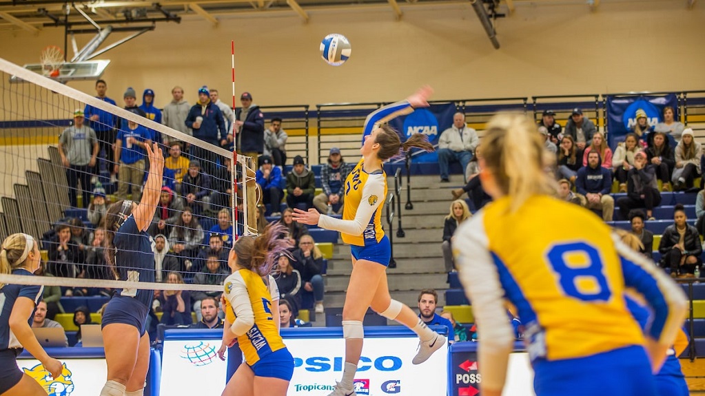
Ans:
[[[332,147],[328,154],[328,163],[321,167],[321,187],[323,192],[313,199],[313,204],[322,214],[343,213],[345,189],[343,183],[353,167],[343,161],[341,149]]]

